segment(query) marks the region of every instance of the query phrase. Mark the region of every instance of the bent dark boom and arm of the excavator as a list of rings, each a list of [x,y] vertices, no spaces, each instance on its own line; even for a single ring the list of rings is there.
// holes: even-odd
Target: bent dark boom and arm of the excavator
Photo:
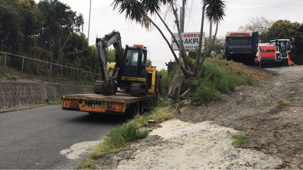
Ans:
[[[110,90],[113,85],[113,80],[111,80],[111,78],[108,77],[108,70],[106,68],[107,54],[106,54],[105,49],[111,45],[114,46],[115,52],[116,52],[115,68],[119,69],[122,66],[122,64],[124,63],[120,33],[118,31],[114,30],[109,34],[106,34],[102,38],[97,37],[95,45],[97,48],[98,61],[100,64],[101,76],[102,76],[102,81],[104,84],[104,87],[102,87],[102,88],[104,88],[105,95],[110,95],[112,93]]]

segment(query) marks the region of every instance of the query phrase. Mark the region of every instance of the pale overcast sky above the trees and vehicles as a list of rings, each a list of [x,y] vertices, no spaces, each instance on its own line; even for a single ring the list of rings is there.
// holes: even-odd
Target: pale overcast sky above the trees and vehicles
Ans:
[[[87,35],[90,1],[60,1],[68,4],[72,10],[77,11],[77,13],[83,14],[83,31]],[[162,64],[160,62],[162,62],[164,64],[164,69],[166,69],[165,62],[168,62],[170,59],[174,60],[174,57],[158,30],[154,28],[150,32],[147,32],[140,25],[128,22],[125,20],[124,14],[119,15],[117,11],[113,11],[113,7],[110,6],[112,2],[112,0],[92,0],[89,44],[93,45],[95,43],[96,35],[102,37],[112,30],[116,30],[121,34],[123,46],[126,44],[130,46],[133,44],[143,44],[144,46],[147,46],[153,66],[157,66],[158,70],[160,70],[162,69]],[[225,36],[227,31],[238,30],[238,27],[248,23],[248,20],[252,16],[265,16],[273,20],[286,19],[292,22],[303,22],[303,0],[225,0],[225,4],[227,6],[226,17],[218,28],[217,36]],[[182,5],[181,0],[179,5]],[[185,32],[200,32],[201,8],[201,0],[187,1],[185,10]],[[163,12],[165,11],[165,8],[161,9]],[[171,14],[166,16],[166,23],[174,30],[173,32],[177,32],[177,29],[174,29],[171,17]],[[162,31],[170,41],[171,36],[168,31],[166,31],[165,26],[161,24],[161,21],[157,17],[154,16],[153,18],[155,19],[155,23],[162,28]],[[204,31],[205,34],[209,34],[209,24],[207,22],[204,24]]]

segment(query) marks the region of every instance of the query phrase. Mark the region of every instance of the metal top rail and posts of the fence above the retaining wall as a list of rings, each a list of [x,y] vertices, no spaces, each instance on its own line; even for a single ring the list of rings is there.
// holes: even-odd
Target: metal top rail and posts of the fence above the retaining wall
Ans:
[[[7,61],[7,56],[8,56],[8,55],[12,55],[12,56],[17,56],[17,57],[21,57],[21,58],[22,58],[22,69],[21,69],[21,73],[23,73],[24,59],[30,59],[30,60],[37,61],[37,72],[36,72],[36,76],[37,76],[37,77],[38,77],[39,62],[50,64],[50,67],[49,67],[49,76],[51,76],[51,73],[52,73],[52,65],[60,66],[60,67],[61,67],[61,77],[60,77],[60,79],[62,79],[63,67],[64,67],[64,68],[71,69],[70,80],[72,80],[72,71],[73,71],[73,70],[78,70],[78,71],[81,71],[81,72],[90,73],[90,74],[93,75],[93,79],[94,79],[95,75],[99,76],[99,78],[100,78],[100,76],[101,76],[101,74],[98,74],[98,73],[89,72],[89,71],[85,71],[85,70],[82,70],[82,69],[76,69],[76,68],[73,68],[73,67],[63,66],[63,65],[60,65],[60,64],[51,63],[51,62],[47,62],[47,61],[43,61],[43,60],[39,60],[39,59],[33,59],[33,58],[25,57],[25,56],[20,56],[20,55],[16,55],[16,54],[12,54],[12,53],[6,53],[6,52],[1,52],[1,51],[0,51],[0,54],[4,54],[4,67],[3,67],[4,71],[5,71],[5,67],[6,67],[6,64],[7,64],[7,63],[6,63],[6,61]]]

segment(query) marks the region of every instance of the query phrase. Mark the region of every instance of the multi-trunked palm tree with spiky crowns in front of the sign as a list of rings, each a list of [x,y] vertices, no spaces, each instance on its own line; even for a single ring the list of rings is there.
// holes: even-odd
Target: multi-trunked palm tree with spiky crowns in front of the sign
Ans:
[[[177,8],[175,6],[175,0],[114,0],[112,5],[114,6],[114,10],[118,10],[121,14],[125,11],[125,18],[128,18],[130,21],[135,21],[138,24],[141,24],[142,27],[145,27],[147,30],[151,29],[151,25],[155,26],[163,39],[168,44],[175,60],[178,62],[178,57],[176,56],[174,50],[171,47],[170,42],[167,40],[162,30],[158,27],[157,24],[149,17],[149,15],[157,14],[161,19],[162,23],[165,25],[168,32],[171,34],[173,39],[175,40],[178,47],[181,47],[181,54],[183,58],[184,67],[181,65],[181,70],[185,75],[185,78],[190,78],[193,76],[202,77],[205,69],[201,69],[201,66],[214,46],[215,37],[217,35],[218,24],[223,20],[225,16],[225,4],[222,0],[202,0],[202,21],[201,21],[201,30],[200,30],[200,40],[199,40],[199,48],[197,52],[197,57],[195,63],[193,64],[191,60],[188,58],[186,51],[184,49],[183,43],[178,44],[176,38],[173,36],[172,31],[168,28],[167,24],[163,20],[160,15],[160,6],[161,5],[169,5],[169,10],[172,11],[175,16],[175,23],[179,31],[179,18],[177,14]],[[203,25],[204,25],[204,16],[210,21],[212,19],[214,24],[216,24],[216,30],[214,34],[214,38],[210,43],[210,47],[205,52],[204,57],[200,61],[201,56],[201,44],[202,44],[202,34],[203,34]],[[213,73],[211,74],[213,75]],[[208,77],[211,77],[210,75]]]

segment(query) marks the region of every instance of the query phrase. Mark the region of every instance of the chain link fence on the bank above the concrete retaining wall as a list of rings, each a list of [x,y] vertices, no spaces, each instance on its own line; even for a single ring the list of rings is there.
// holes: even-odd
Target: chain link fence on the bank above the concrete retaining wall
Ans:
[[[8,79],[38,79],[84,85],[92,85],[101,78],[99,73],[5,52],[0,52],[0,76]]]

